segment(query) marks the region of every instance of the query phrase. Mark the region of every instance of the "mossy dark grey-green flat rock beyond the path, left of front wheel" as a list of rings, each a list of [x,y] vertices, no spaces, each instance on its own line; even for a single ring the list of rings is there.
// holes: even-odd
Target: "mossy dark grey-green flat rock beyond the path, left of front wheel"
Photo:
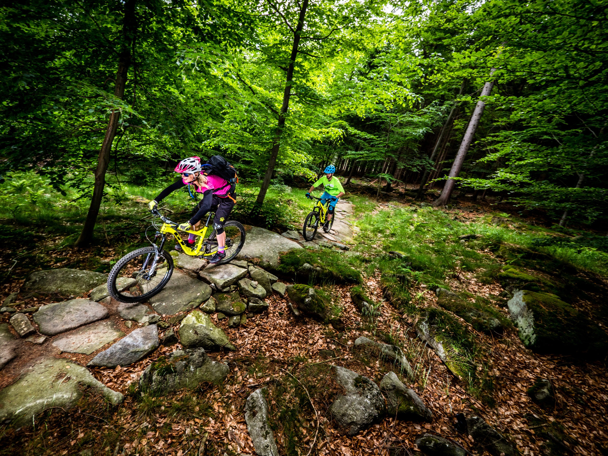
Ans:
[[[64,297],[80,296],[102,285],[107,274],[81,269],[49,269],[32,272],[22,291],[57,294]]]

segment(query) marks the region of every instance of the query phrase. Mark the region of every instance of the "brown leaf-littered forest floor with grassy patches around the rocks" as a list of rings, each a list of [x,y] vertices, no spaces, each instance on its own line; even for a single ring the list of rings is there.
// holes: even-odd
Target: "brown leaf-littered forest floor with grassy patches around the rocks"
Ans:
[[[280,454],[414,454],[417,452],[414,441],[423,432],[456,441],[472,454],[482,454],[483,449],[479,449],[471,437],[459,434],[455,429],[456,413],[479,414],[508,435],[523,455],[608,454],[606,359],[536,354],[523,346],[516,328],[508,328],[500,336],[486,335],[460,319],[475,334],[479,347],[475,355],[479,381],[475,384],[459,381],[437,354],[416,337],[415,316],[386,299],[384,260],[378,263],[376,258],[384,258],[385,252],[394,249],[399,242],[404,246],[412,242],[409,238],[400,237],[399,227],[415,220],[413,232],[420,229],[416,242],[427,245],[429,238],[437,233],[432,230],[438,229],[440,223],[442,227],[446,224],[450,228],[457,226],[456,234],[480,232],[489,226],[487,230],[493,231],[484,232],[486,237],[496,235],[499,228],[493,227],[489,220],[497,216],[504,221],[500,227],[503,241],[506,239],[513,243],[519,236],[523,238],[531,232],[545,230],[539,227],[542,220],[516,218],[512,207],[494,201],[465,200],[448,209],[425,207],[418,210],[411,199],[404,201],[385,192],[382,192],[380,201],[375,201],[375,198],[365,196],[373,187],[371,190],[365,187],[370,185],[364,181],[355,182],[352,188],[356,188],[357,194],[348,198],[355,208],[350,222],[361,228],[351,250],[360,252],[365,259],[361,285],[378,303],[378,316],[366,318],[359,313],[350,299],[352,285],[319,285],[331,295],[334,305],[342,309],[340,317],[345,323],[344,331],[334,330],[331,325],[323,325],[307,317],[295,318],[287,307],[287,298],[273,295],[267,299],[270,304],[268,314],[250,316],[244,326],[231,329],[227,328],[226,320],[217,322],[237,347],[233,353],[209,353],[216,361],[229,364],[230,373],[223,384],[206,384],[197,390],[182,390],[165,397],[138,392],[137,379],[147,365],[179,348],[179,344],[161,346],[136,364],[92,370],[93,375],[106,386],[125,394],[122,404],[109,406],[98,396],[86,394],[77,407],[67,412],[50,409],[41,413],[33,426],[15,429],[4,424],[0,430],[3,442],[0,454],[255,454],[247,434],[243,407],[247,396],[261,385],[269,388],[271,423]],[[406,213],[409,217],[407,223],[404,221]],[[445,220],[439,222],[440,216]],[[425,230],[431,231],[425,234]],[[43,232],[40,234],[44,235]],[[29,264],[19,261],[11,264],[12,257],[5,254],[2,266],[4,271],[13,268],[10,272],[13,279],[3,285],[2,299],[17,291],[27,272],[33,269],[69,266],[98,268],[103,272],[108,263],[116,261],[126,248],[96,246],[74,249],[62,244],[64,238],[60,234],[38,238],[36,247],[43,249],[44,253],[29,254]],[[453,291],[486,297],[497,312],[508,317],[504,303],[492,300],[504,291],[503,287],[495,278],[480,275],[480,271],[491,271],[488,265],[502,265],[512,262],[513,258],[501,257],[483,243],[469,246],[458,242],[453,244],[455,246],[451,249],[460,250],[441,253],[455,263],[449,270],[441,272],[443,279],[438,278],[439,273],[432,272],[430,266],[427,272],[416,272],[416,280],[409,287],[412,302],[419,307],[437,306],[434,288],[441,285]],[[56,248],[51,248],[53,246]],[[423,258],[422,252],[418,254]],[[440,263],[441,255],[437,254],[433,261]],[[477,255],[475,261],[478,263],[474,264],[477,267],[465,261],[473,258],[472,255]],[[415,257],[414,254],[412,256]],[[545,274],[545,271],[536,272]],[[590,275],[593,275],[594,286],[599,283],[601,288],[608,289],[606,277],[581,269],[580,277],[585,279]],[[590,292],[590,295],[597,300],[587,295],[572,304],[605,328],[608,323],[603,320],[603,314],[595,313],[596,302],[602,296],[595,292]],[[32,298],[23,305],[41,301]],[[8,316],[0,316],[0,322],[7,320]],[[347,367],[376,382],[395,369],[394,365],[378,356],[362,356],[354,351],[354,340],[360,336],[399,345],[404,350],[416,373],[415,380],[407,382],[407,386],[414,389],[432,410],[435,416],[432,423],[386,418],[353,438],[341,435],[333,426],[328,407],[339,390],[330,379],[331,365]],[[67,353],[63,355],[70,358]],[[78,361],[75,358],[72,356],[74,361]],[[528,388],[539,377],[550,379],[553,384],[556,403],[550,409],[537,406],[527,394]],[[7,384],[7,379],[4,380],[0,387]]]

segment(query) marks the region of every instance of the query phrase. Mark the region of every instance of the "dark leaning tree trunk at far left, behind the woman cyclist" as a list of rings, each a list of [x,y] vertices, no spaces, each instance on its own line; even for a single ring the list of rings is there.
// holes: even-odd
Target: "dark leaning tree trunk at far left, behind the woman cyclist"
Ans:
[[[137,31],[137,23],[135,18],[135,3],[136,0],[127,0],[125,3],[125,18],[122,26],[123,43],[119,54],[118,70],[116,72],[116,83],[114,83],[114,96],[123,99],[125,95],[126,78],[131,64],[131,43],[133,43],[134,35]],[[106,170],[110,161],[110,151],[112,150],[112,142],[116,136],[118,121],[120,119],[120,111],[113,110],[108,120],[108,128],[106,128],[106,136],[103,139],[102,148],[99,151],[97,158],[97,169],[95,169],[95,184],[93,186],[93,197],[91,206],[86,215],[85,224],[82,227],[80,236],[76,241],[77,247],[86,246],[93,239],[93,229],[97,222],[99,208],[102,205],[103,188],[106,184]]]

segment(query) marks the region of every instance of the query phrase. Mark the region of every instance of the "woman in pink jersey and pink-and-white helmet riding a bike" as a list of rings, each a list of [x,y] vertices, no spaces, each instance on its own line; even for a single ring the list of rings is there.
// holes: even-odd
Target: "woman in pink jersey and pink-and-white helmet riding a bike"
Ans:
[[[213,218],[213,229],[215,229],[216,238],[218,240],[218,251],[209,258],[209,263],[217,263],[223,258],[226,258],[226,252],[224,252],[224,246],[226,244],[226,232],[224,232],[224,223],[226,223],[230,212],[236,202],[235,195],[230,195],[230,184],[215,176],[215,174],[204,174],[201,167],[201,159],[199,157],[188,157],[183,159],[175,167],[175,172],[182,175],[182,179],[169,185],[163,190],[160,195],[150,201],[148,207],[153,210],[159,202],[167,197],[174,190],[185,187],[185,185],[193,185],[196,192],[202,193],[201,202],[192,211],[192,218],[188,223],[179,224],[178,229],[187,230],[192,229],[198,231],[198,227],[201,224],[201,219],[205,216],[210,209],[215,210],[215,217]],[[193,244],[195,241],[195,235],[190,233],[188,235],[188,243]],[[175,246],[176,250],[182,250],[179,244]]]

